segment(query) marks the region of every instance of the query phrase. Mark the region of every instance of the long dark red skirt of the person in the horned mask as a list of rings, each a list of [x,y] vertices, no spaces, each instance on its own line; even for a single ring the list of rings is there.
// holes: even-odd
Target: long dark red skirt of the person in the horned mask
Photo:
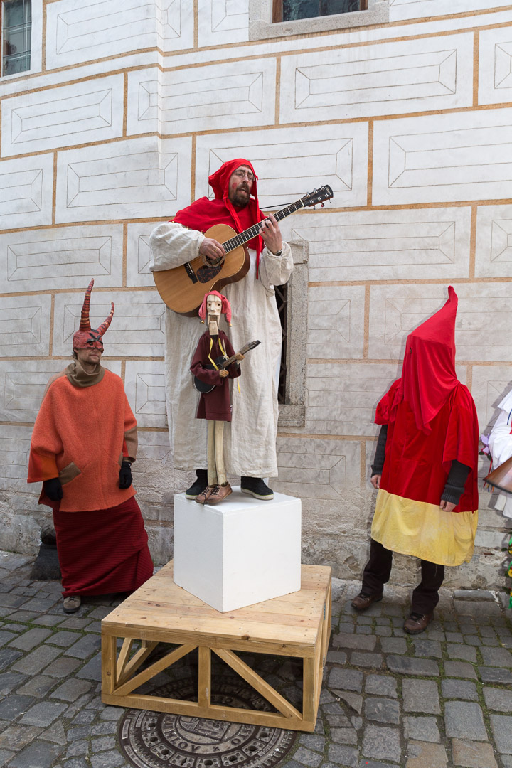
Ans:
[[[153,575],[140,507],[129,498],[117,507],[53,513],[62,594],[132,592]]]

